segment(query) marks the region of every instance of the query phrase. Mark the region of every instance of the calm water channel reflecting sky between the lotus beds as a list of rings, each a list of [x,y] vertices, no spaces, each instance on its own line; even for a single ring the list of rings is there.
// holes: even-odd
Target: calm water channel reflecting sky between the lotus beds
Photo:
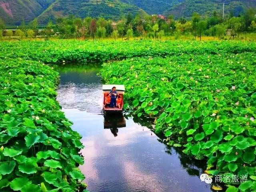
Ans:
[[[163,144],[146,121],[132,116],[104,120],[100,68],[65,66],[58,101],[82,135],[90,192],[210,192],[203,163]]]

